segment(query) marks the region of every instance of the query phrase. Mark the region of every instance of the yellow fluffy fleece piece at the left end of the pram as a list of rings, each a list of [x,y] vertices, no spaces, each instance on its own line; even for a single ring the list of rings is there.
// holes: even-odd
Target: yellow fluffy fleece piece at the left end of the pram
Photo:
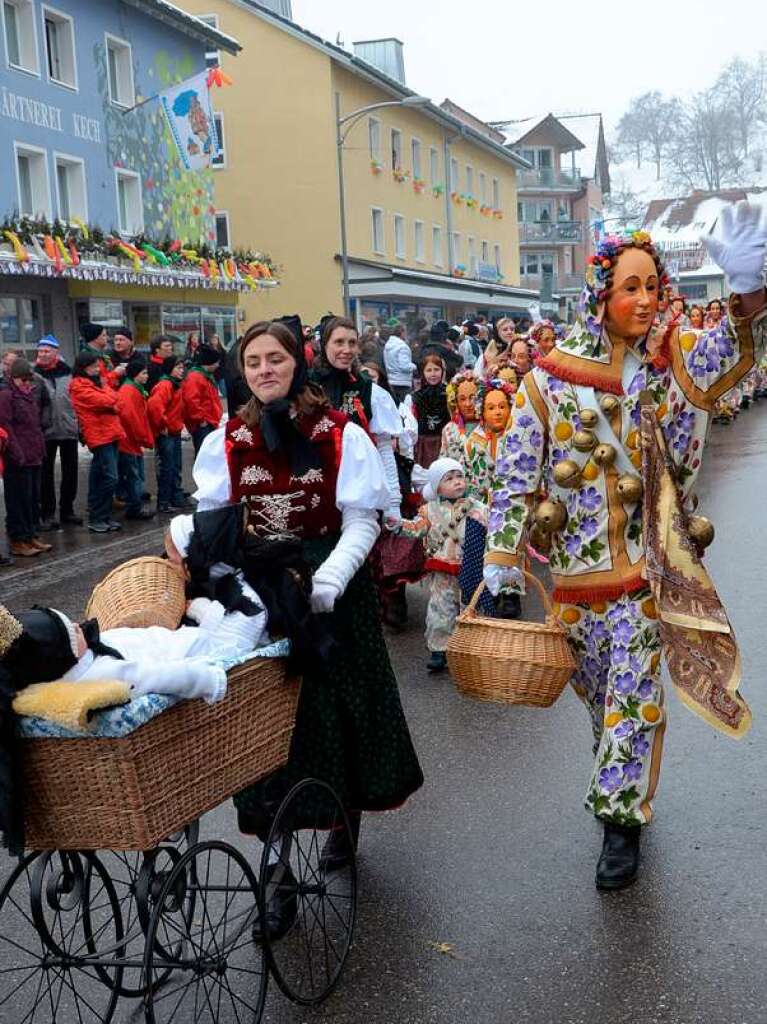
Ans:
[[[13,699],[16,715],[44,718],[68,729],[89,728],[90,716],[101,708],[127,703],[130,684],[119,679],[90,679],[68,682],[33,683],[20,690]]]

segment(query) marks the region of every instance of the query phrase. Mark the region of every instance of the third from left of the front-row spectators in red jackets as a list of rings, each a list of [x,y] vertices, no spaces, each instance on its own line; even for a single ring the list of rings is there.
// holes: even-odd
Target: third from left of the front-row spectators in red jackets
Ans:
[[[180,512],[193,507],[181,489],[181,381],[185,369],[181,356],[170,355],[164,359],[162,376],[146,403],[155,437],[158,512]]]

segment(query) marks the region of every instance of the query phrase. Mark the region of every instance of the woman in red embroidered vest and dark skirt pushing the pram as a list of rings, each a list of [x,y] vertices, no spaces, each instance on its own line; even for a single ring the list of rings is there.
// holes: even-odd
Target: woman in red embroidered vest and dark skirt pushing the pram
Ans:
[[[235,798],[240,827],[265,838],[289,790],[316,777],[333,786],[358,830],[361,811],[398,807],[423,782],[367,564],[389,488],[370,437],[309,383],[300,325],[294,333],[254,324],[240,362],[252,397],[200,451],[199,508],[242,502],[257,536],[298,538],[312,572],[312,609],[329,616],[336,641],[304,673],[288,765]],[[305,808],[310,823],[322,810]],[[324,864],[348,857],[332,833]],[[281,934],[289,918],[289,905],[269,901],[264,927]]]

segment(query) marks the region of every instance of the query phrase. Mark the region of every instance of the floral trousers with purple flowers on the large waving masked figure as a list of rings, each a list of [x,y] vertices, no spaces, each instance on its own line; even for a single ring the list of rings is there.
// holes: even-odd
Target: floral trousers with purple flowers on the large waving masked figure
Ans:
[[[580,659],[572,687],[594,730],[594,773],[586,806],[615,824],[652,817],[666,718],[661,637],[648,590],[614,601],[557,608]]]

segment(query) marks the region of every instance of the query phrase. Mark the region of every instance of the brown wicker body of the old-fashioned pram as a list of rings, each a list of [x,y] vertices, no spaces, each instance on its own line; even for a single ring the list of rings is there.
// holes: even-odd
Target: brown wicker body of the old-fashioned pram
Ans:
[[[300,684],[284,658],[228,673],[120,739],[24,739],[27,846],[148,850],[288,759]]]

